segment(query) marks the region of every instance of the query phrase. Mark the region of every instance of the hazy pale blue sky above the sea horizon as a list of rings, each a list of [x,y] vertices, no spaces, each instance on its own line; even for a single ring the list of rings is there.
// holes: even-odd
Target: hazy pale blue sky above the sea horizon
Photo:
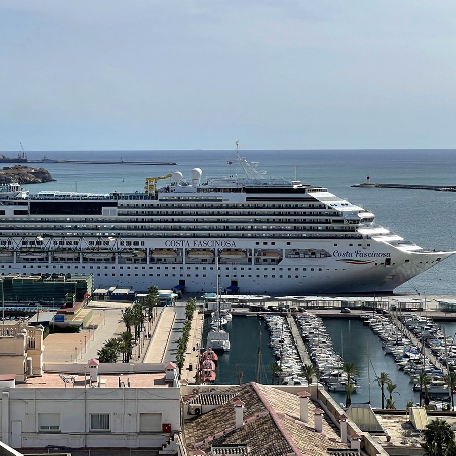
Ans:
[[[454,0],[0,0],[0,151],[456,147]]]

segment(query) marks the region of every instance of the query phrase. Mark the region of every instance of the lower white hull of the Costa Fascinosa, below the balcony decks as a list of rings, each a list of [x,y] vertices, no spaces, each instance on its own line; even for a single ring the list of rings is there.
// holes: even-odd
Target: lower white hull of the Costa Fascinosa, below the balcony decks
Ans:
[[[194,239],[191,242],[200,243],[207,240]],[[225,241],[223,241],[225,242]],[[230,240],[238,247],[248,249],[248,241]],[[165,248],[166,241],[148,241],[150,247],[145,250],[153,251],[155,248]],[[338,241],[338,249],[331,245],[331,241],[294,241],[293,247],[309,249],[317,244],[321,249],[322,244],[328,245],[328,251],[332,256],[325,258],[274,258],[264,261],[264,257],[245,258],[229,261],[221,259],[220,289],[232,285],[237,281],[242,293],[279,293],[287,295],[309,294],[340,294],[340,293],[363,293],[391,292],[402,283],[432,267],[448,256],[451,252],[427,252],[414,253],[403,252],[395,247],[384,243],[375,243],[366,249],[349,250],[349,242]],[[279,244],[276,242],[276,248]],[[284,243],[285,244],[285,243]],[[289,246],[284,246],[289,247]],[[215,249],[214,249],[215,251]],[[334,256],[336,251],[344,251],[343,256]],[[380,255],[379,257],[361,255]],[[385,256],[383,256],[385,255]],[[440,258],[438,260],[438,258]],[[93,273],[95,282],[102,285],[110,285],[115,277],[125,277],[137,291],[146,290],[150,283],[159,283],[160,288],[172,289],[181,276],[185,275],[186,291],[200,292],[215,289],[213,278],[213,261],[195,262],[194,258],[185,261],[184,252],[180,256],[161,259],[152,255],[144,255],[141,258],[125,258],[123,254],[88,252],[78,257],[57,258],[56,255],[48,256],[36,252],[18,253],[12,252],[11,256],[0,257],[0,271],[23,273]],[[111,261],[106,262],[106,259]],[[390,264],[385,260],[390,259]],[[407,261],[407,262],[405,262]],[[102,262],[103,265],[100,265]],[[105,266],[107,269],[105,269]],[[204,270],[202,268],[205,268]],[[211,273],[212,270],[212,273]],[[184,271],[185,274],[180,273]],[[206,271],[206,274],[203,273]],[[98,276],[98,274],[100,274]],[[107,275],[106,275],[107,274]],[[128,278],[128,279],[127,279]],[[117,280],[117,279],[116,279]]]

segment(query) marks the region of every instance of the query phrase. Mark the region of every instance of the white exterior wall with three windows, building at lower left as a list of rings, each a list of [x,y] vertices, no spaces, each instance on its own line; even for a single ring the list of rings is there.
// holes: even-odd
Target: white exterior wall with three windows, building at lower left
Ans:
[[[178,388],[16,388],[1,398],[2,440],[16,448],[161,447],[181,430]],[[40,430],[41,413],[58,414],[60,429]],[[90,415],[98,413],[109,415],[109,431],[90,430]],[[141,432],[141,413],[161,414],[170,432]]]

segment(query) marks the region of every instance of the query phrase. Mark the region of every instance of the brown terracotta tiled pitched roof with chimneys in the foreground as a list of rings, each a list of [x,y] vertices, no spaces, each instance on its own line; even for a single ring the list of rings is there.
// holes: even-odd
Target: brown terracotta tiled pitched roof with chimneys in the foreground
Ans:
[[[247,445],[252,456],[327,456],[328,448],[344,448],[326,415],[320,433],[314,430],[312,412],[308,423],[299,420],[298,396],[254,382],[225,390],[225,394],[234,392],[238,393],[235,399],[185,422],[189,452],[200,449],[212,454],[212,445],[225,444]],[[244,425],[235,429],[233,404],[238,400],[245,403]],[[310,402],[310,410],[317,405]]]

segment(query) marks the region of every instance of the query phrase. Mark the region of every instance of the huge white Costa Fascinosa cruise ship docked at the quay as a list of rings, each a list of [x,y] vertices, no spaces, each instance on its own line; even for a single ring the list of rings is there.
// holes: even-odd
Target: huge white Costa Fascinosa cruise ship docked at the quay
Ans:
[[[281,295],[392,292],[454,252],[424,249],[374,214],[300,181],[176,171],[144,192],[29,194],[0,184],[0,274],[92,273],[94,283]],[[216,266],[217,265],[217,266]]]

